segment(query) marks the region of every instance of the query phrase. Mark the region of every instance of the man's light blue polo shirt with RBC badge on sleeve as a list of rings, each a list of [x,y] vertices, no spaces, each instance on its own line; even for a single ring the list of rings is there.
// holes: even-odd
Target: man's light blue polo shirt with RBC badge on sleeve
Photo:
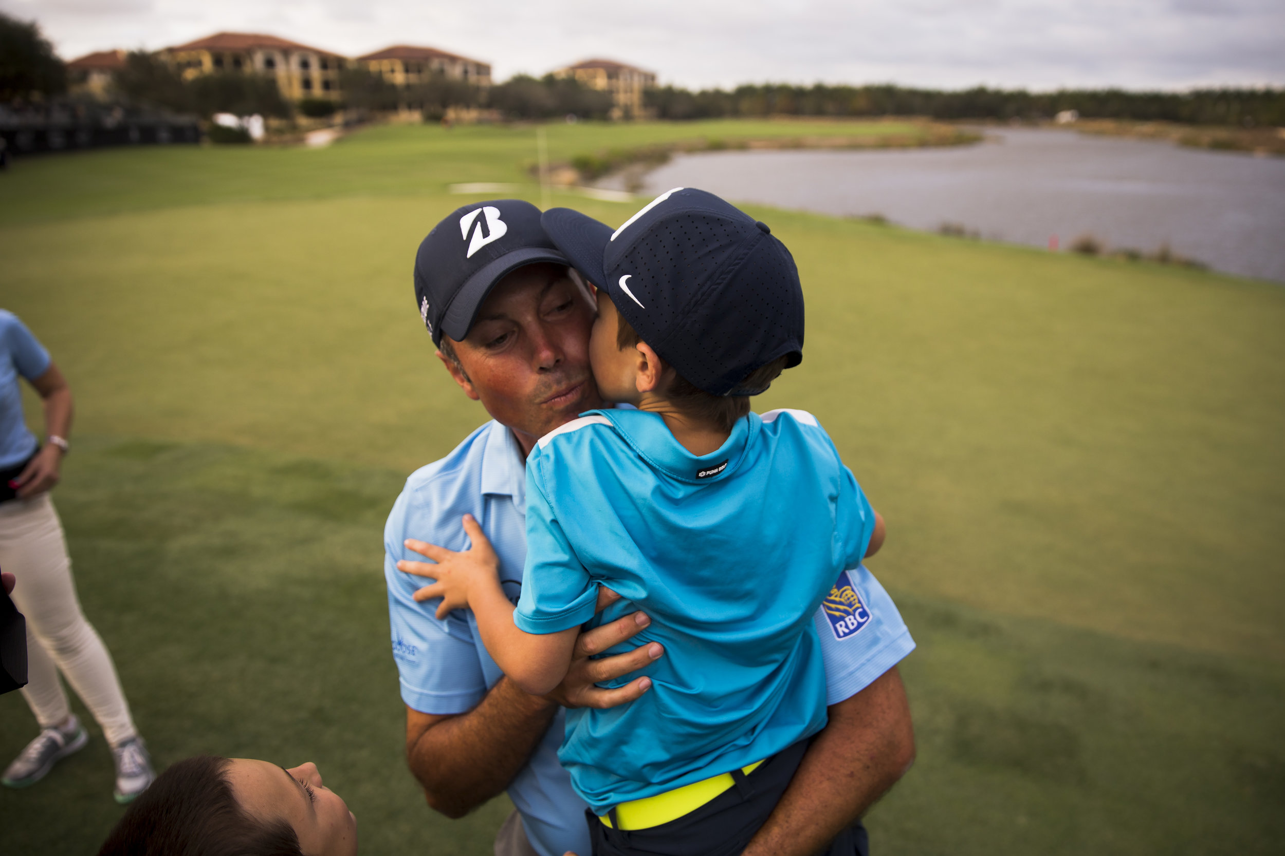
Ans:
[[[436,715],[468,712],[500,680],[501,672],[483,648],[470,611],[456,610],[439,621],[434,616],[437,601],[416,603],[411,598],[430,580],[397,570],[398,560],[423,560],[402,547],[402,542],[416,538],[452,551],[468,549],[470,543],[460,518],[473,515],[500,557],[505,592],[515,599],[527,558],[526,507],[522,449],[513,434],[493,421],[470,434],[447,457],[406,480],[384,529],[384,578],[401,697],[412,710]],[[843,615],[857,616],[857,628],[838,635],[834,616],[817,610],[813,617],[825,662],[828,705],[857,694],[915,647],[879,581],[864,566],[853,567],[846,576],[851,583],[840,583],[852,594],[840,598],[848,610]],[[853,601],[860,607],[852,607]],[[843,621],[840,616],[838,622]],[[527,835],[541,856],[590,851],[586,803],[558,761],[563,734],[564,714],[559,712],[531,761],[509,785],[509,797],[522,812]]]

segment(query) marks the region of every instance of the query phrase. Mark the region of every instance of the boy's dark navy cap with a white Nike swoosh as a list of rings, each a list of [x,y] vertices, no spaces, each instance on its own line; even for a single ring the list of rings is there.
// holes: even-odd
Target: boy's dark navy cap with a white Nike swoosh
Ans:
[[[605,289],[630,326],[698,389],[743,388],[777,357],[803,361],[803,286],[765,223],[693,187],[660,194],[623,226],[569,208],[540,218],[572,267]]]

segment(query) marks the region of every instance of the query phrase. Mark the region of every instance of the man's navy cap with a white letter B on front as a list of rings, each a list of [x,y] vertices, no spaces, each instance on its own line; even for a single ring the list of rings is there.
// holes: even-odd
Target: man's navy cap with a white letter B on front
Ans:
[[[520,199],[464,205],[433,227],[415,254],[415,303],[433,344],[469,335],[486,295],[523,264],[569,264]]]

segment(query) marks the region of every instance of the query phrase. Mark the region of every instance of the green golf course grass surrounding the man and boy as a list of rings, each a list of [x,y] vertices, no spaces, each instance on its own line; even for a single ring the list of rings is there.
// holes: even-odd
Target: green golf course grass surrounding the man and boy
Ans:
[[[569,159],[888,127],[801,124],[547,133]],[[55,501],[154,757],[314,760],[362,853],[490,853],[509,809],[446,820],[405,769],[382,530],[405,476],[487,418],[433,359],[415,248],[482,198],[451,184],[538,203],[533,162],[533,128],[423,126],[0,173],[0,307],[76,395]],[[641,205],[553,203],[613,225]],[[756,409],[834,436],[919,643],[919,760],[867,817],[875,851],[1280,852],[1285,290],[752,210],[808,299],[804,362]],[[91,733],[0,791],[0,851],[95,850],[121,810]],[[0,697],[0,764],[33,734]]]

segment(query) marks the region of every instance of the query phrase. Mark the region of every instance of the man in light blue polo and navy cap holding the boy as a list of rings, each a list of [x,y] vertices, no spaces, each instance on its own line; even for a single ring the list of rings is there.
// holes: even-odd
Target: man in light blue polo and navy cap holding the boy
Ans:
[[[645,675],[618,689],[594,684],[646,666],[663,656],[660,646],[587,658],[641,630],[646,616],[625,616],[581,635],[567,679],[538,698],[502,678],[472,613],[438,620],[436,603],[412,598],[421,580],[397,570],[400,560],[419,558],[406,539],[442,545],[443,554],[468,548],[472,539],[460,520],[470,515],[468,527],[493,545],[502,586],[515,601],[526,558],[526,453],[540,436],[600,406],[589,371],[594,309],[567,276],[567,261],[538,217],[515,200],[469,205],[420,248],[416,296],[438,357],[495,421],[409,479],[386,530],[386,576],[407,707],[407,760],[429,805],[463,816],[508,789],[520,816],[505,824],[497,853],[577,850],[587,856],[583,802],[556,760],[559,703],[610,707],[646,692]],[[896,671],[914,643],[878,581],[864,569],[849,575],[852,590],[842,594],[852,615],[820,622],[829,724],[747,853],[802,856],[830,842],[829,852],[864,852],[857,819],[914,757]]]

